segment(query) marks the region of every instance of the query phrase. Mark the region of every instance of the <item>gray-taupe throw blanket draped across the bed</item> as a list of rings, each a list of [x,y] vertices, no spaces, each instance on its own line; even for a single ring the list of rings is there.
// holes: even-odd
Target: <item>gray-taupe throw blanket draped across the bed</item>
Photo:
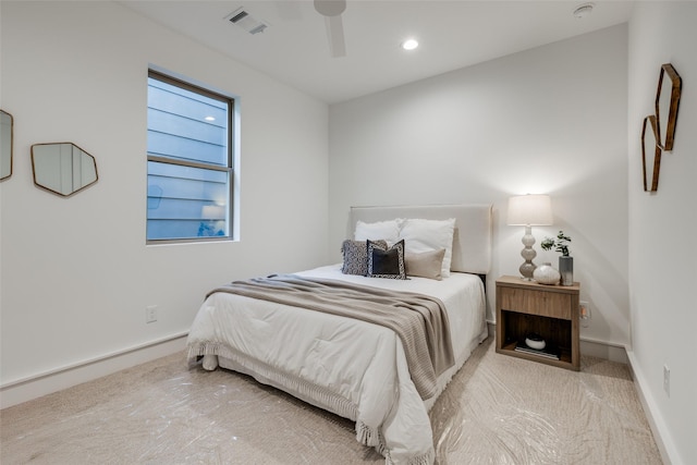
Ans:
[[[295,274],[234,281],[208,295],[216,292],[356,318],[394,330],[424,400],[436,394],[437,377],[454,365],[448,314],[436,297]]]

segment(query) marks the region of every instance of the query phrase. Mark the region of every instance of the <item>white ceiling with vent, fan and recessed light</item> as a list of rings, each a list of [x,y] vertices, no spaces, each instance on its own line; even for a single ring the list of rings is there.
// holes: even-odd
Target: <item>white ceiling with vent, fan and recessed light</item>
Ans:
[[[628,21],[632,1],[348,0],[346,54],[330,54],[311,0],[138,1],[124,7],[328,103],[423,79]],[[249,34],[227,20],[239,8],[268,24]],[[420,46],[400,44],[415,37]]]

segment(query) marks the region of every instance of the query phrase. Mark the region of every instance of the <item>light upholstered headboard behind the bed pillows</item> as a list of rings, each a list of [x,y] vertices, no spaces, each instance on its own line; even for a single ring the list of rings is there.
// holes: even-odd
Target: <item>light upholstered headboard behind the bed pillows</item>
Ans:
[[[358,220],[371,223],[395,218],[455,218],[451,269],[477,274],[487,274],[491,270],[491,205],[351,207],[350,236]]]

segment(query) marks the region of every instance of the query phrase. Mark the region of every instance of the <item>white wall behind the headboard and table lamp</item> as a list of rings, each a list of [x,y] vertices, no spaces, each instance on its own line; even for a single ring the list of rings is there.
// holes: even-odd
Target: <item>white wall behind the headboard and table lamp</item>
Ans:
[[[549,193],[554,225],[533,229],[535,261],[558,266],[539,244],[571,235],[594,309],[582,338],[627,343],[626,35],[620,25],[331,106],[334,257],[352,205],[492,203],[493,290],[523,261],[508,197]]]

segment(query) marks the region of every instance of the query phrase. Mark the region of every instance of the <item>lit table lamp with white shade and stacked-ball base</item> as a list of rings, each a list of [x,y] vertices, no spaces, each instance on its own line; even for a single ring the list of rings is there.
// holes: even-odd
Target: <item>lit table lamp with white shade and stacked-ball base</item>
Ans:
[[[535,237],[531,227],[546,227],[552,224],[552,205],[548,195],[518,195],[509,198],[509,225],[525,227],[521,256],[525,260],[518,270],[526,281],[533,281],[535,264],[533,259],[537,252],[533,248]]]

